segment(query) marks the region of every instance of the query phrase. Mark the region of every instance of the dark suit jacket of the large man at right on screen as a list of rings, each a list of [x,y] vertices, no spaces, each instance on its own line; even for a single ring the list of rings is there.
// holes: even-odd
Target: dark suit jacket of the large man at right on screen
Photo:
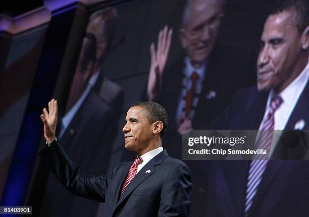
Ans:
[[[217,129],[259,129],[268,93],[256,87],[235,96]],[[309,84],[306,85],[287,122],[286,129],[303,119],[309,129]],[[276,147],[277,149],[277,147]],[[275,149],[275,151],[276,151]],[[250,161],[214,161],[208,182],[208,216],[243,216]],[[249,216],[306,216],[309,213],[309,161],[269,160]]]

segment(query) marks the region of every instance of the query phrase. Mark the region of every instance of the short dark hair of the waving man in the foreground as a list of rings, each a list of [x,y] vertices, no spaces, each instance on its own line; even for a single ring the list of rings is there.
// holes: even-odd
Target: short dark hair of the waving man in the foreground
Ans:
[[[162,138],[166,129],[168,128],[168,115],[165,108],[161,104],[152,101],[135,102],[131,107],[135,106],[144,108],[150,124],[153,124],[156,121],[161,121],[163,123],[163,129],[160,134]]]

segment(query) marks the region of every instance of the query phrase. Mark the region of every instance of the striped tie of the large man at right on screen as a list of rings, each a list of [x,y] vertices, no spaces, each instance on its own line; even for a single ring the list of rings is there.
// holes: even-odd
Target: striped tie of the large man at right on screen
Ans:
[[[256,155],[253,157],[253,160],[250,163],[246,187],[245,216],[247,216],[248,214],[249,208],[252,205],[254,195],[258,191],[258,186],[262,180],[262,175],[266,169],[266,164],[268,161],[267,156],[273,141],[275,126],[274,114],[277,108],[280,107],[282,102],[283,100],[279,95],[273,98],[270,104],[269,113],[263,123],[263,131],[261,132],[259,141],[256,144],[257,148],[263,148],[264,150],[266,150],[267,155]]]

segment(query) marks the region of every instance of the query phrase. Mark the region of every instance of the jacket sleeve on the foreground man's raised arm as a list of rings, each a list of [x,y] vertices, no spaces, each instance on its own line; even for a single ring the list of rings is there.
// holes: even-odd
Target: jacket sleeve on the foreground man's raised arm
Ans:
[[[66,154],[62,146],[54,141],[50,146],[45,145],[38,151],[38,155],[48,161],[52,173],[71,193],[105,202],[105,194],[109,183],[120,165],[107,176],[87,176]]]

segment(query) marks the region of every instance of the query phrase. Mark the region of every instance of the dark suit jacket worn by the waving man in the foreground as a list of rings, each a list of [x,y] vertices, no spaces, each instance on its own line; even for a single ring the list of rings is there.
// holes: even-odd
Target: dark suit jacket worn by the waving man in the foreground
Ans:
[[[134,177],[119,198],[132,162],[123,162],[107,176],[86,176],[53,142],[38,154],[48,159],[54,175],[71,192],[105,202],[105,216],[188,216],[191,178],[187,166],[166,150],[153,157]],[[102,161],[103,162],[103,161]],[[146,173],[150,170],[150,173]],[[84,206],[88,210],[89,207]]]

